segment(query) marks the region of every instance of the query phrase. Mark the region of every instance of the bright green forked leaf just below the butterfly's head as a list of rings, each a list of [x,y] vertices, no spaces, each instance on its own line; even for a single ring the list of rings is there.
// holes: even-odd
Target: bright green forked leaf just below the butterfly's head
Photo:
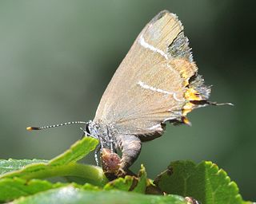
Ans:
[[[78,159],[82,159],[90,151],[93,151],[97,144],[97,139],[84,137],[74,143],[69,150],[51,159],[48,163],[39,160],[41,163],[32,163],[22,167],[18,171],[11,171],[0,175],[0,179],[18,177],[29,180],[45,179],[55,176],[76,176],[83,178],[84,182],[104,186],[108,182],[108,179],[106,179],[102,168],[75,163]]]

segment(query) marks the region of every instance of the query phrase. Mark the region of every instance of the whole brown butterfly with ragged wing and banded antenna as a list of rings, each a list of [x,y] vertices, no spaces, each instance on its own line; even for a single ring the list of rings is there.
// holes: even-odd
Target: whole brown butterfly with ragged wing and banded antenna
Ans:
[[[210,86],[198,74],[182,23],[163,10],[138,34],[110,80],[94,120],[65,124],[86,124],[86,135],[99,140],[100,150],[114,154],[120,150],[114,174],[126,175],[143,142],[161,136],[167,122],[190,124],[187,114],[194,108],[216,104],[209,97]]]

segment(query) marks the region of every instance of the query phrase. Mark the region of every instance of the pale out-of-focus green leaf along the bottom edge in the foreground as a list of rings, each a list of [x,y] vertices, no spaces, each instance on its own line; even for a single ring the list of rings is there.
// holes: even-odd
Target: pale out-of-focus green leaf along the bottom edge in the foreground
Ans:
[[[170,204],[186,204],[184,198],[178,195],[156,196],[137,194],[133,192],[125,192],[119,190],[110,191],[87,191],[75,188],[74,186],[66,186],[58,189],[47,190],[28,197],[19,198],[12,202],[14,204],[45,204],[45,203],[90,203],[90,204],[108,204],[108,203],[123,203],[123,204],[148,204],[148,203],[170,203]]]

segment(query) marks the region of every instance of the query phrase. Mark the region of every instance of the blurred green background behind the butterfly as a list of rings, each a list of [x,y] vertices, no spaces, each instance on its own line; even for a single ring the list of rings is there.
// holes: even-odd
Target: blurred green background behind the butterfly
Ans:
[[[78,126],[26,131],[30,125],[90,120],[106,85],[135,37],[160,10],[178,14],[212,101],[192,127],[168,125],[144,143],[151,178],[170,161],[211,160],[255,199],[254,1],[11,1],[0,2],[0,158],[51,159],[82,135]],[[93,154],[86,162],[94,163]],[[88,161],[89,160],[89,161]]]

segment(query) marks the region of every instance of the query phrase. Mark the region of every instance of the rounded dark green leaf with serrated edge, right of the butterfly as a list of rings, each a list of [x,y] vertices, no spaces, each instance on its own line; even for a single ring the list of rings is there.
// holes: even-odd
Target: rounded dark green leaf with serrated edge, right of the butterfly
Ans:
[[[204,204],[243,203],[235,182],[230,182],[226,172],[211,162],[170,163],[154,183],[168,194],[190,196]]]

